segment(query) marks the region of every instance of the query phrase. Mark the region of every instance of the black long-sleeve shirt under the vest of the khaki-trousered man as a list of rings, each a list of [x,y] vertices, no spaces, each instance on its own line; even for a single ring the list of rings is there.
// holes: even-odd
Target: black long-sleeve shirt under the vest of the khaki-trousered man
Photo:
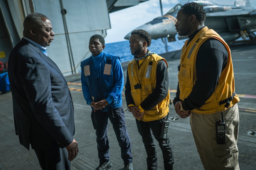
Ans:
[[[192,40],[197,32],[189,39]],[[228,51],[226,47],[215,38],[209,38],[199,48],[195,60],[196,81],[191,93],[182,103],[184,110],[193,110],[204,105],[205,101],[213,94],[222,70],[227,65]],[[179,84],[173,104],[179,99]]]

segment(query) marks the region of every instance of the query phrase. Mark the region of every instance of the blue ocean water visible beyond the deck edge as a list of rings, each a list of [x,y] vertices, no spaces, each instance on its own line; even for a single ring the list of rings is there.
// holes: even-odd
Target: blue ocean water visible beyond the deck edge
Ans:
[[[186,39],[177,40],[173,42],[168,42],[168,52],[176,51],[182,49]],[[130,47],[129,47],[129,40],[109,43],[105,44],[105,49],[103,50],[105,53],[110,53],[120,57],[120,61],[128,62],[133,59],[133,55],[131,54]],[[157,54],[166,53],[165,45],[162,39],[152,40],[150,47],[148,47],[149,51],[155,52]]]

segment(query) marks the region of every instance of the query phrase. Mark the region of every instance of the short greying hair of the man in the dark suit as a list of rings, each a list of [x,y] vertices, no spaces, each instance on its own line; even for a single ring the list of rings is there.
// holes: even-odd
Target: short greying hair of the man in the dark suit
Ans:
[[[23,27],[25,30],[28,30],[29,28],[41,28],[43,25],[45,25],[45,20],[50,20],[47,16],[38,13],[33,12],[26,16],[23,22]]]

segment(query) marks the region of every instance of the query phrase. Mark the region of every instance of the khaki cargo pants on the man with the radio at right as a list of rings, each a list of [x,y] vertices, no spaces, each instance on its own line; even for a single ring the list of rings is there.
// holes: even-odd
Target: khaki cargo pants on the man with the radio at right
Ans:
[[[226,123],[226,144],[216,142],[216,120],[222,119],[221,112],[213,114],[191,113],[190,125],[197,151],[205,170],[239,170],[237,138],[239,110],[237,104],[223,111]]]

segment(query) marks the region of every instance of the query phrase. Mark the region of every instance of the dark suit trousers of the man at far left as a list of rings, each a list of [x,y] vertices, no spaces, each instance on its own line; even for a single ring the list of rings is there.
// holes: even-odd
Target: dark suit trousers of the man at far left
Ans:
[[[71,170],[66,148],[34,149],[42,170]]]

